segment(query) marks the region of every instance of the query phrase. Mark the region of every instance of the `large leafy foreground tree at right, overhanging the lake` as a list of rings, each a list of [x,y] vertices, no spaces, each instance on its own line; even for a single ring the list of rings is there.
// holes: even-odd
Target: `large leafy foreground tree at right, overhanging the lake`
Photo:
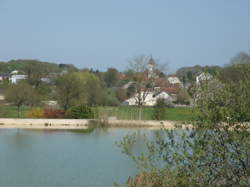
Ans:
[[[160,131],[139,156],[130,149],[135,135],[123,139],[123,151],[142,169],[128,186],[250,185],[250,68],[237,68],[248,71],[239,82],[200,86],[193,129]]]

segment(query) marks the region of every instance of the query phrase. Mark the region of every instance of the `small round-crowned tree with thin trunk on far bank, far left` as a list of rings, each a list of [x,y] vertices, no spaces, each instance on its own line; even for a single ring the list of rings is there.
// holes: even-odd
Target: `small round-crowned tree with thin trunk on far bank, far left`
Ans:
[[[17,106],[18,117],[21,116],[21,106],[33,105],[38,102],[34,88],[25,81],[20,81],[18,84],[11,85],[5,91],[5,98],[8,102]]]

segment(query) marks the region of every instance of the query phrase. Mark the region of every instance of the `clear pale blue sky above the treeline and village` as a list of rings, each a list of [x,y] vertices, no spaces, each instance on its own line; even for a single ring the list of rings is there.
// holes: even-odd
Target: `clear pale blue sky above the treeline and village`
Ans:
[[[250,48],[250,0],[0,0],[0,61],[105,71],[152,55],[169,71]]]

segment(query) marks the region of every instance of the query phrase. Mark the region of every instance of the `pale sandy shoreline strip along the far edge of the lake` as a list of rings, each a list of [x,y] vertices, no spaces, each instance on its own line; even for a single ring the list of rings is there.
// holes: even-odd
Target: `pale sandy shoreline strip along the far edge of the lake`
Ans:
[[[100,125],[98,124],[100,123]],[[58,129],[58,130],[81,130],[89,129],[95,124],[98,126],[112,128],[165,128],[165,129],[185,129],[192,128],[192,125],[181,124],[176,128],[178,122],[175,121],[153,121],[153,120],[107,120],[98,121],[93,119],[19,119],[0,118],[0,129]],[[180,124],[180,122],[179,122]]]

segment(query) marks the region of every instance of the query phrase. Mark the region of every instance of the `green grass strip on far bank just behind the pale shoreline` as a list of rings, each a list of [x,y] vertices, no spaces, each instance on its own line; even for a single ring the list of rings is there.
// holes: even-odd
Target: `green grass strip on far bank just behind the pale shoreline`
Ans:
[[[95,107],[95,113],[98,117],[105,119],[108,117],[116,117],[119,120],[138,120],[138,107]],[[21,118],[29,118],[31,112],[30,107],[22,107]],[[142,120],[153,120],[154,108],[143,108],[141,113]],[[97,116],[97,115],[96,115]],[[0,106],[0,118],[17,118],[17,107]],[[171,121],[188,121],[195,117],[192,108],[166,108],[166,113],[163,120]]]

